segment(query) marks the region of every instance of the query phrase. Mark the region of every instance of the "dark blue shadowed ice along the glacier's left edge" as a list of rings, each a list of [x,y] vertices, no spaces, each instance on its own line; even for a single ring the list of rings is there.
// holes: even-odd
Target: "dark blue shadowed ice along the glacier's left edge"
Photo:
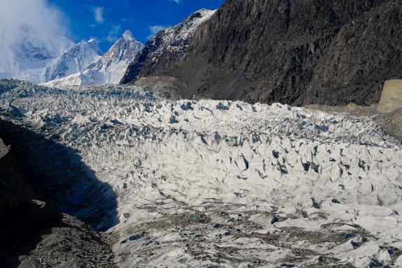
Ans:
[[[119,222],[112,187],[75,150],[10,121],[0,120],[0,137],[11,144],[16,168],[38,199],[97,230]]]

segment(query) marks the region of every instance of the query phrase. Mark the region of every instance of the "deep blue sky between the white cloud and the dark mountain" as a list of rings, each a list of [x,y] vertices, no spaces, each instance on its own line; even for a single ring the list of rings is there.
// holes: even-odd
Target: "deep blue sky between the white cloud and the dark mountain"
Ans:
[[[48,0],[64,15],[68,37],[96,38],[105,52],[129,29],[145,43],[162,27],[177,24],[200,8],[216,9],[224,0]]]

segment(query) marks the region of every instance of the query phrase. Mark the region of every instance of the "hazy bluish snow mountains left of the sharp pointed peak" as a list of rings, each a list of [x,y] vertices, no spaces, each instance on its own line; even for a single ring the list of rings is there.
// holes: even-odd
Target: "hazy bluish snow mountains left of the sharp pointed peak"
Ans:
[[[0,78],[43,83],[80,72],[102,54],[94,39],[82,40],[77,45],[68,38],[47,38],[38,42],[29,28],[23,31],[22,40],[15,46],[3,48],[8,57],[0,59]]]

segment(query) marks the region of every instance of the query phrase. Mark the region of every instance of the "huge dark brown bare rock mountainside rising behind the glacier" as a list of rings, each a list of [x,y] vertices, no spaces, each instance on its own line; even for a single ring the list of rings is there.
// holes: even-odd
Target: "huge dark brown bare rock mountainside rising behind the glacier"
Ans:
[[[228,0],[160,71],[184,98],[368,105],[401,77],[402,1]]]

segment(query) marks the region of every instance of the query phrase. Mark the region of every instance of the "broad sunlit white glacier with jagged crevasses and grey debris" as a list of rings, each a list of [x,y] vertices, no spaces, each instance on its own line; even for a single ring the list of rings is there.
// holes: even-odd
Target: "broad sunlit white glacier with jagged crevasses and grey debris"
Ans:
[[[3,91],[0,114],[113,187],[121,267],[367,267],[402,253],[401,145],[370,118],[27,84]]]

